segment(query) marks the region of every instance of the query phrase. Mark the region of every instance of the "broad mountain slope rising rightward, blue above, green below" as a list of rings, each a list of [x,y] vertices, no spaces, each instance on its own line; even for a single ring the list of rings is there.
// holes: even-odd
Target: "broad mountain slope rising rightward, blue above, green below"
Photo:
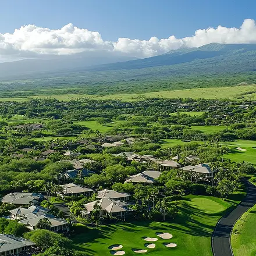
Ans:
[[[0,96],[136,94],[256,84],[256,44],[208,44],[134,61],[82,67],[79,63],[70,61],[63,69],[65,63],[52,61],[45,65],[47,69],[54,66],[51,72],[35,72],[31,67],[22,74],[21,68],[12,77],[1,63],[0,74],[5,78],[0,81]]]

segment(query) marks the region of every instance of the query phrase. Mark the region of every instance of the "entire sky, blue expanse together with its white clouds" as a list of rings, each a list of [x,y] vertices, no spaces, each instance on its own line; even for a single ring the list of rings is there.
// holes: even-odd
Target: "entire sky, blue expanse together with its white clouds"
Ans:
[[[256,43],[255,9],[255,0],[0,0],[0,59]]]

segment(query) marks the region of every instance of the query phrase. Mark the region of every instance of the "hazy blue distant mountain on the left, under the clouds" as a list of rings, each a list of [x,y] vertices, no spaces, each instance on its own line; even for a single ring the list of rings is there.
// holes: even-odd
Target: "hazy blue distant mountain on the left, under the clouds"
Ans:
[[[87,66],[137,59],[117,52],[83,52],[74,55],[38,55],[37,58],[0,63],[0,77],[54,73]]]

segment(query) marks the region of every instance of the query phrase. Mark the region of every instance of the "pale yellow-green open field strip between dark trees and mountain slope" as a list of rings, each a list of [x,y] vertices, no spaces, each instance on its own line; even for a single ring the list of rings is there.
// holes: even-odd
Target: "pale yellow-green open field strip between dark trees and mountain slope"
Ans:
[[[112,95],[91,95],[91,94],[57,94],[57,95],[34,95],[28,97],[13,97],[0,98],[2,101],[15,100],[27,101],[34,98],[56,98],[61,101],[69,101],[77,98],[90,99],[120,99],[123,101],[139,101],[144,98],[206,98],[206,99],[239,99],[251,98],[256,99],[256,85],[240,85],[232,87],[209,87],[209,88],[191,88],[184,90],[168,90],[168,91],[153,91],[150,93],[139,94],[112,94]]]

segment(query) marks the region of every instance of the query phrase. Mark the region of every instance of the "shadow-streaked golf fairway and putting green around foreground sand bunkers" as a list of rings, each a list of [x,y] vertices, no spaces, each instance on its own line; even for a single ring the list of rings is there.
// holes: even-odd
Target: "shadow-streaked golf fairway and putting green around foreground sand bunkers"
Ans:
[[[244,193],[235,195],[241,200]],[[227,202],[215,197],[188,195],[180,201],[180,214],[174,222],[121,222],[98,229],[84,227],[84,232],[73,237],[74,248],[86,251],[88,256],[111,255],[109,246],[122,244],[125,255],[137,255],[131,249],[146,249],[152,256],[211,256],[211,235],[218,219],[239,201]],[[145,248],[143,237],[157,237],[156,232],[173,235],[172,239],[158,237],[155,248]],[[176,243],[168,248],[163,243]]]

